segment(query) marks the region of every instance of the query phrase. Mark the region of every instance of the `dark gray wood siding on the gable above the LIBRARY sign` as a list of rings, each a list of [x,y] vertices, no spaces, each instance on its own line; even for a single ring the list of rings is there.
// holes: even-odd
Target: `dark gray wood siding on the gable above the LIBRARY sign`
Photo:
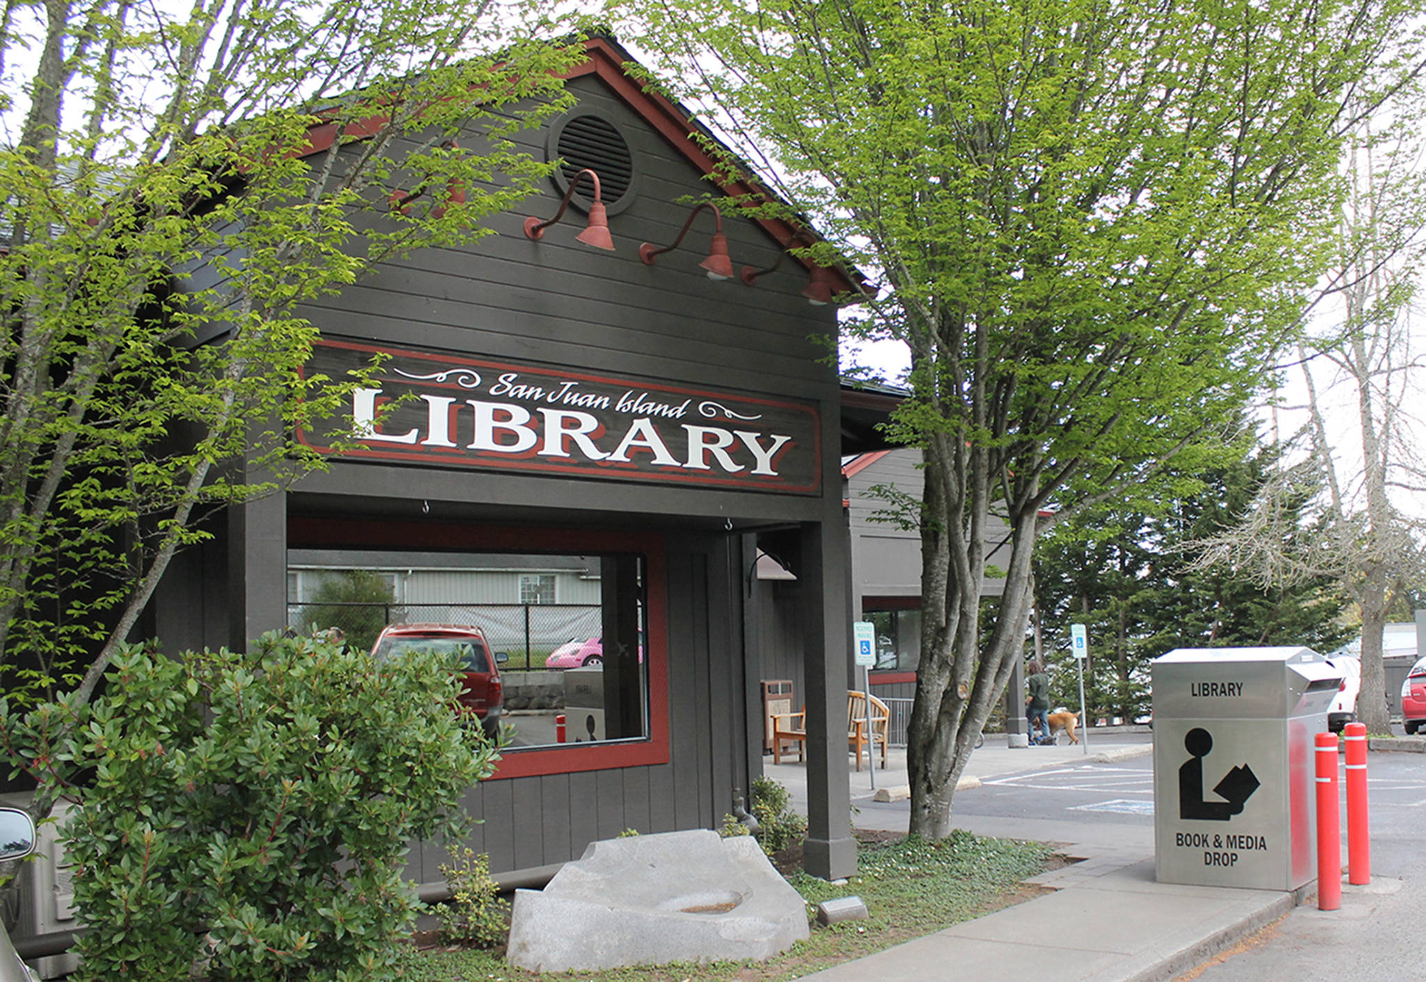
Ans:
[[[324,331],[389,343],[829,398],[836,379],[811,336],[833,329],[834,312],[799,295],[807,282],[801,265],[784,262],[756,286],[707,279],[697,264],[713,229],[709,214],[679,249],[643,265],[639,244],[670,244],[689,214],[676,201],[712,185],[603,83],[579,78],[570,87],[582,111],[620,127],[639,171],[637,197],[609,218],[615,252],[575,242],[583,217],[573,208],[542,241],[525,237],[526,215],[558,210],[550,184],[516,212],[491,218],[495,235],[385,262],[305,314]],[[543,158],[545,131],[520,133],[516,143]],[[462,145],[475,148],[478,140],[463,135]],[[777,258],[777,244],[752,221],[723,224],[734,269]]]

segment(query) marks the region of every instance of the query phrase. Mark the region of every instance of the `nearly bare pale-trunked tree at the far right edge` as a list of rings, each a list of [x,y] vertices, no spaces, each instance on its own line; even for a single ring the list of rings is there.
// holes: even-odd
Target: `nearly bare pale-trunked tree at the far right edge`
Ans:
[[[1420,80],[1383,120],[1353,133],[1326,302],[1289,379],[1305,393],[1278,409],[1301,420],[1283,466],[1242,522],[1205,543],[1204,570],[1245,570],[1265,586],[1330,577],[1362,624],[1358,710],[1389,733],[1382,634],[1397,599],[1426,579],[1426,438],[1419,406],[1426,351],[1412,301],[1426,258]],[[1305,502],[1305,505],[1303,505]]]

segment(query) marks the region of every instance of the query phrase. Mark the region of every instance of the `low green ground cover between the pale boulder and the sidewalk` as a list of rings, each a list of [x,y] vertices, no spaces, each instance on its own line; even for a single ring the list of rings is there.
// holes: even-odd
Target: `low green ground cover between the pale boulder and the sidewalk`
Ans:
[[[908,837],[864,838],[858,848],[860,872],[847,884],[829,884],[800,871],[786,872],[786,865],[779,865],[807,901],[809,919],[816,915],[816,905],[821,901],[851,894],[866,902],[870,918],[826,928],[813,922],[811,938],[767,962],[540,975],[506,965],[503,951],[412,949],[405,955],[401,978],[404,982],[518,982],[539,978],[580,982],[796,979],[1037,896],[1041,891],[1024,887],[1022,881],[1048,868],[1050,857],[1050,847],[1041,842],[983,838],[965,831],[955,831],[940,842]]]

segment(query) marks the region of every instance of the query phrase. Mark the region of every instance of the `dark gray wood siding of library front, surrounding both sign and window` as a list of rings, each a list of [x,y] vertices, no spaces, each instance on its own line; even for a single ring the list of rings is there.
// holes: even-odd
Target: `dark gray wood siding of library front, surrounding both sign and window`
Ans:
[[[791,261],[754,288],[737,279],[709,281],[697,267],[713,229],[707,214],[677,251],[643,265],[639,244],[670,244],[689,211],[676,201],[712,185],[603,83],[580,78],[572,88],[583,107],[622,128],[639,170],[636,200],[610,217],[616,252],[573,241],[583,219],[575,210],[543,241],[523,235],[526,215],[548,218],[558,208],[550,185],[518,212],[489,219],[493,235],[384,262],[339,295],[302,308],[301,315],[324,335],[376,346],[811,400],[823,416],[821,438],[829,439],[837,432],[838,386],[834,368],[821,361],[826,345],[813,338],[834,336],[836,311],[813,308],[800,296],[806,272]],[[516,140],[543,155],[543,131]],[[475,134],[462,135],[462,145],[478,143]],[[726,217],[724,232],[734,269],[770,267],[779,255],[779,245],[752,221]],[[824,482],[834,473],[837,452],[821,446],[823,459],[830,459]],[[224,640],[234,644],[281,627],[284,530],[301,516],[663,532],[669,763],[491,780],[465,798],[479,820],[468,844],[489,854],[492,871],[538,871],[626,828],[716,827],[732,808],[733,788],[746,792],[749,713],[757,713],[747,693],[766,666],[750,664],[744,650],[742,530],[821,522],[830,499],[840,500],[840,495],[837,482],[824,483],[820,495],[797,496],[338,460],[291,492],[235,512],[221,556],[190,554],[177,567],[180,576],[198,567],[208,576],[210,560],[217,560],[225,566],[225,579],[215,582],[224,583],[227,599],[220,604],[204,600],[205,626],[197,627],[185,587],[165,584],[165,596],[187,607],[168,621],[177,634],[207,640],[217,619],[227,624]],[[846,569],[826,576],[841,582]],[[776,617],[774,634],[796,631],[796,607]],[[409,875],[438,884],[446,861],[441,845],[418,844]]]

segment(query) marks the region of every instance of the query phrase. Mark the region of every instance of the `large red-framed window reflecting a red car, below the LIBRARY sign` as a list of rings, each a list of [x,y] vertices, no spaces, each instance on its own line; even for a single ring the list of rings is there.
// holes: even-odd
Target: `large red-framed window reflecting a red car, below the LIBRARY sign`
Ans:
[[[612,536],[560,540],[578,546],[580,537],[606,547],[579,553],[294,547],[288,621],[308,631],[327,627],[314,617],[351,624],[378,619],[384,633],[364,637],[364,646],[379,653],[483,646],[489,666],[465,674],[462,703],[488,730],[506,733],[498,777],[659,763],[667,758],[667,725],[657,720],[666,700],[655,691],[655,683],[663,686],[662,630],[650,629],[650,614],[655,601],[662,606],[662,590],[650,590],[652,564],[639,549],[645,543],[630,543],[625,552]],[[399,603],[384,596],[337,603],[322,597],[315,604],[294,589],[329,579],[332,570],[381,582],[395,569]],[[512,603],[515,597],[520,601]]]

